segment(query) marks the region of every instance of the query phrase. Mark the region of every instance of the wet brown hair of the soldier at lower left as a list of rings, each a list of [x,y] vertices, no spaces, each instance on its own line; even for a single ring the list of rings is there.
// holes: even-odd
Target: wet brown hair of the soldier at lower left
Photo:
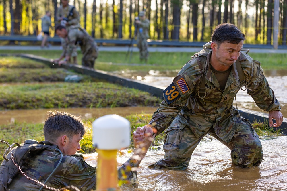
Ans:
[[[43,129],[45,140],[56,142],[57,138],[62,135],[67,135],[69,139],[72,139],[74,135],[80,133],[83,137],[86,133],[80,116],[61,111],[49,111],[48,114]]]

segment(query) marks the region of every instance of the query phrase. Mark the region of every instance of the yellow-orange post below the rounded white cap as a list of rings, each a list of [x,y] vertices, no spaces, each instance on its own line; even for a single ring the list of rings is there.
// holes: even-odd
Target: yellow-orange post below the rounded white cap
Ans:
[[[117,150],[98,149],[97,191],[119,190]]]

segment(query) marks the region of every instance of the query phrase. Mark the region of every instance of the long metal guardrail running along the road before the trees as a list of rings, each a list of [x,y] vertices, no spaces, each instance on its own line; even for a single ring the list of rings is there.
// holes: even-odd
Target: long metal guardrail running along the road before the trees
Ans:
[[[1,41],[30,41],[37,42],[37,37],[34,35],[31,36],[22,36],[22,35],[12,35],[12,36],[0,36]],[[61,42],[59,37],[49,37],[50,42]],[[99,44],[114,44],[114,45],[130,45],[130,39],[102,39],[96,38],[95,41]],[[136,44],[137,41],[133,40],[133,44]],[[188,41],[177,41],[177,40],[148,40],[148,45],[155,46],[183,46],[183,47],[202,47],[206,42],[188,42]],[[267,44],[244,44],[244,48],[266,48],[273,49],[273,45]],[[287,49],[287,45],[279,45],[278,49]]]

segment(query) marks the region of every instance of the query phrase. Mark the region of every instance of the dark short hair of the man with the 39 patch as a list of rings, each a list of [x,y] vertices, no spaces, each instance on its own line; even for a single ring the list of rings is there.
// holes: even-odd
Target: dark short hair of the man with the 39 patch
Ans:
[[[238,44],[242,40],[245,40],[245,34],[236,25],[230,23],[217,25],[211,36],[211,41],[216,42],[218,45],[222,42]]]

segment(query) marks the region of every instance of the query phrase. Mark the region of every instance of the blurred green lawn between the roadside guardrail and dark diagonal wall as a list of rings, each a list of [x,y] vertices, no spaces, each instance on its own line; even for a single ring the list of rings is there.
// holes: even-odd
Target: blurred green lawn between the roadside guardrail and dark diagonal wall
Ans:
[[[25,53],[42,56],[44,58],[55,59],[61,55],[61,50],[2,50],[1,53]],[[101,51],[96,60],[95,68],[104,71],[120,70],[179,70],[193,54],[196,52],[150,52],[150,58],[147,64],[133,65],[141,63],[139,53],[133,52],[131,60],[125,60],[126,52],[105,52]],[[286,70],[287,54],[279,53],[248,53],[254,60],[259,60],[263,70]],[[79,52],[77,57],[78,63],[81,64],[82,54]],[[123,64],[125,63],[125,64]]]

